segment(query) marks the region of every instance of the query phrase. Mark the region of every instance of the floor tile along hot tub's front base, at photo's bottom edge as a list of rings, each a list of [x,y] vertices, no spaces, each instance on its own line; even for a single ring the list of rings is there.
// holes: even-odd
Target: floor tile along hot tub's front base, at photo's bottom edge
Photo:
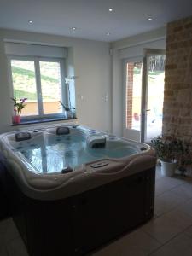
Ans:
[[[113,242],[93,256],[145,256],[158,247],[160,243],[140,229]]]

